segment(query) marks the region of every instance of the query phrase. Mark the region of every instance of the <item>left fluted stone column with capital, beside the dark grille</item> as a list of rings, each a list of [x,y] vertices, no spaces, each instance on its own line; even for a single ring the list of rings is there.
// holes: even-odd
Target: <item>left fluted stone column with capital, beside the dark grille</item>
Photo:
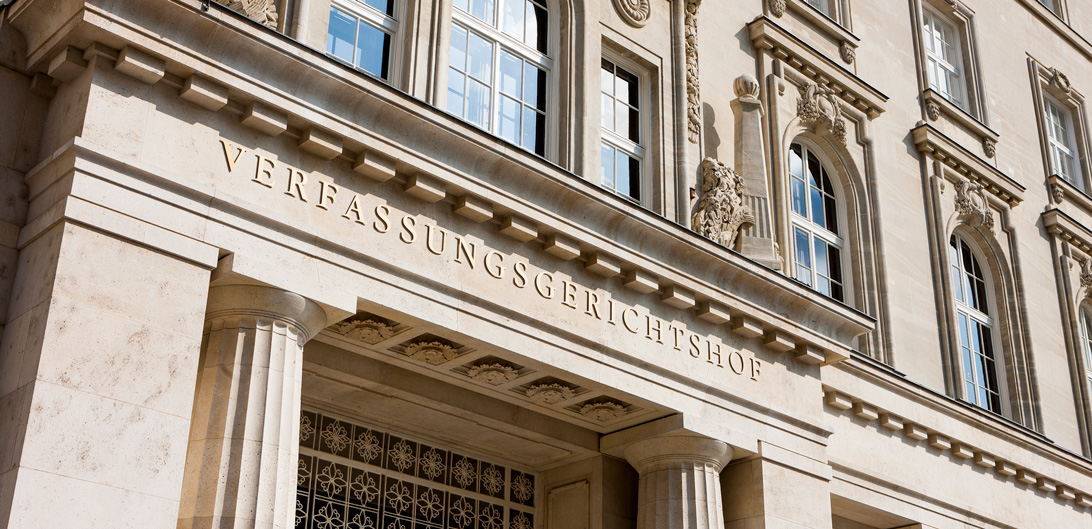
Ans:
[[[324,325],[290,292],[210,290],[179,529],[295,525],[304,343]]]

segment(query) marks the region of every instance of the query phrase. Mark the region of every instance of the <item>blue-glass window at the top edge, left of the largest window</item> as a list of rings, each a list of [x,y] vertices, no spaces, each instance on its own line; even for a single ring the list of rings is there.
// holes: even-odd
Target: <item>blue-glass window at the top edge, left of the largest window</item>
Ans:
[[[395,0],[339,1],[330,5],[327,54],[390,80],[392,40],[399,31]]]

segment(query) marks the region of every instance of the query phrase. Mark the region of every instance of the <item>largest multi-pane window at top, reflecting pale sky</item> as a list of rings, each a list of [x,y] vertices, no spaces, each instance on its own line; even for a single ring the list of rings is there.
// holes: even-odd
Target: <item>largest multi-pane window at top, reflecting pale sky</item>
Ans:
[[[448,111],[545,155],[546,0],[455,0],[451,19]]]

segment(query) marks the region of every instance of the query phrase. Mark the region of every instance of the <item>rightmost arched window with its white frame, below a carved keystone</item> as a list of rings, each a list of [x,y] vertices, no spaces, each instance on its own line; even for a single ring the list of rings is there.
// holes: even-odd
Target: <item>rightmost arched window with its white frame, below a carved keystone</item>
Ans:
[[[1000,311],[989,260],[973,240],[953,233],[948,244],[948,267],[960,374],[956,392],[972,404],[1009,415]]]

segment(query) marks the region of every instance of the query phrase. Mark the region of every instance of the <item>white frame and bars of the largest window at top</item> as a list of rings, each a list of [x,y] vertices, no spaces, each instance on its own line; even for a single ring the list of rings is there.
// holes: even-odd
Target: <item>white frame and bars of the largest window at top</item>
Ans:
[[[482,0],[477,0],[482,1]],[[441,20],[443,20],[441,30],[441,43],[439,43],[436,64],[437,64],[437,84],[435,85],[435,96],[434,104],[439,108],[443,108],[449,113],[459,116],[461,119],[474,125],[475,127],[486,130],[490,134],[497,136],[498,138],[506,139],[499,129],[499,118],[498,118],[498,103],[501,97],[500,87],[500,74],[499,74],[499,60],[503,51],[519,57],[524,64],[534,64],[545,72],[545,90],[544,93],[539,95],[545,98],[545,108],[542,114],[544,115],[544,127],[541,130],[539,137],[543,139],[543,146],[541,150],[536,150],[535,145],[526,145],[522,138],[522,126],[523,120],[520,121],[520,132],[519,141],[515,141],[517,145],[529,152],[536,153],[549,160],[556,160],[559,150],[562,145],[559,145],[559,104],[560,96],[558,94],[559,86],[559,48],[560,38],[558,34],[559,30],[559,10],[557,9],[555,0],[494,0],[494,16],[492,22],[486,22],[474,14],[473,11],[475,0],[456,0],[453,2],[444,2],[441,7]],[[545,52],[539,54],[536,49],[529,46],[526,43],[512,37],[511,35],[505,33],[501,30],[499,21],[503,15],[503,9],[507,5],[513,4],[514,2],[520,3],[535,3],[545,8],[546,11],[546,28],[545,28]],[[461,8],[462,4],[466,4],[470,9],[464,10]],[[455,5],[460,4],[460,5]],[[458,35],[454,34],[453,30],[459,26],[465,30],[467,34],[473,34],[477,37],[484,38],[489,42],[492,47],[492,59],[490,68],[490,84],[489,84],[489,110],[488,110],[488,122],[479,124],[466,116],[465,107],[461,108],[461,111],[453,111],[454,102],[451,98],[452,94],[449,92],[451,87],[452,75],[461,74],[462,71],[458,71],[458,66],[453,66],[453,60],[458,62],[459,57],[453,57],[452,42]],[[467,64],[468,66],[468,64]],[[466,81],[468,84],[470,81]],[[521,80],[522,82],[522,80]],[[466,101],[466,95],[463,95],[464,102]],[[525,98],[521,97],[521,103],[526,103]],[[465,105],[465,103],[464,103]],[[521,105],[521,114],[525,111],[527,105]],[[508,141],[512,142],[511,138],[507,138]]]

